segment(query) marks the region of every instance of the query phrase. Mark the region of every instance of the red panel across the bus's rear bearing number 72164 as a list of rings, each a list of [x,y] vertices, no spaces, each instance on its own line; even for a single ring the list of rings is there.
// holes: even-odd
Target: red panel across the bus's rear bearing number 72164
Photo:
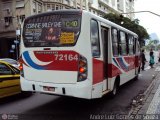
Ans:
[[[43,70],[78,71],[79,54],[74,51],[34,51],[34,56],[39,61],[48,62],[45,65],[35,63]]]

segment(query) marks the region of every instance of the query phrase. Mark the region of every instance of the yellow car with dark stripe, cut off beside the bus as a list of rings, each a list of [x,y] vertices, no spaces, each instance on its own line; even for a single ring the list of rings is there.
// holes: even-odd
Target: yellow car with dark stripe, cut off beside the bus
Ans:
[[[20,71],[0,60],[0,98],[21,93]]]

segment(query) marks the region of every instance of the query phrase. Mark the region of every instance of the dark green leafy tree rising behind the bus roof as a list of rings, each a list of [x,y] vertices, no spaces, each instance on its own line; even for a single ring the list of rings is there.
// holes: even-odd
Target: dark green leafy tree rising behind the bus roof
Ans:
[[[104,18],[135,32],[139,37],[139,42],[141,46],[144,46],[145,39],[149,39],[149,34],[147,33],[147,30],[143,26],[139,25],[138,19],[131,21],[127,17],[113,13],[106,14]]]

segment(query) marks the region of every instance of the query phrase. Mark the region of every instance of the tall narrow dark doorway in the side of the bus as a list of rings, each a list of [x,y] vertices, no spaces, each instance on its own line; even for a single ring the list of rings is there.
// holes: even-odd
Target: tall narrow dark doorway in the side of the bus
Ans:
[[[104,25],[101,25],[101,39],[102,39],[102,55],[103,55],[103,91],[108,89],[108,31]]]

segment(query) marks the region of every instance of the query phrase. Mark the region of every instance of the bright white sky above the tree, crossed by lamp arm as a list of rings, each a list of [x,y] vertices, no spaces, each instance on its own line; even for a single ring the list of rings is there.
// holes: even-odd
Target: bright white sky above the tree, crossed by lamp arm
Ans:
[[[135,0],[136,11],[151,11],[160,15],[160,0]],[[140,20],[142,25],[149,34],[156,33],[160,38],[160,16],[147,12],[135,13],[135,18]]]

